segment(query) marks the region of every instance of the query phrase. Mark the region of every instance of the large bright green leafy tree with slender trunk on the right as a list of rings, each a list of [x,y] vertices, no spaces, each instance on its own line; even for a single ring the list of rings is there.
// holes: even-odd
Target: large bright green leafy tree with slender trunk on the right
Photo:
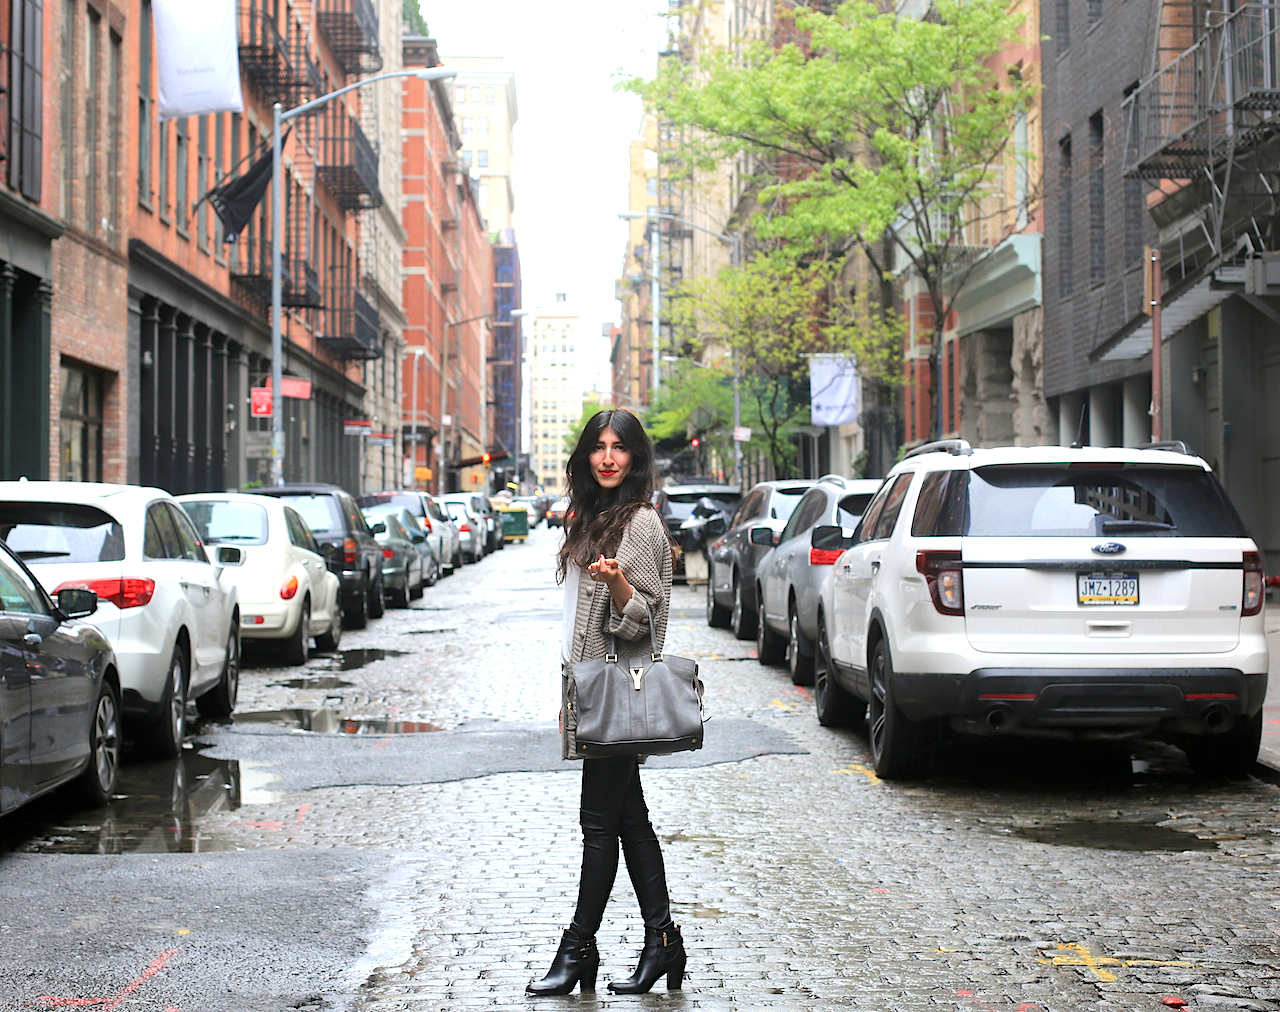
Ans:
[[[753,223],[762,238],[861,248],[881,278],[895,269],[886,249],[909,264],[934,307],[937,380],[947,315],[979,246],[1025,215],[998,186],[1034,93],[1000,56],[1023,18],[1006,0],[937,0],[924,19],[854,0],[794,18],[804,46],[666,60],[653,81],[625,87],[682,128],[684,165],[748,155],[772,166]]]

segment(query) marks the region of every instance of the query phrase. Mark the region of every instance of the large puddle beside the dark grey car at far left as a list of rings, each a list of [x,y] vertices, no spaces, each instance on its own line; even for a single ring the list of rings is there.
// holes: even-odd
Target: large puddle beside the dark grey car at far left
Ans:
[[[241,806],[241,765],[184,750],[161,763],[124,764],[113,801],[79,806],[55,791],[0,819],[0,853],[198,853],[230,844],[200,820]],[[266,777],[260,778],[262,783]]]

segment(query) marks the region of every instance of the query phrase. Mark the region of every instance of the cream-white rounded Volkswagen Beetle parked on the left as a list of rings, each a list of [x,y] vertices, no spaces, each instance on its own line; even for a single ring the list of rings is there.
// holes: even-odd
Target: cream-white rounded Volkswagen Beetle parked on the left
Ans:
[[[193,493],[179,495],[206,545],[234,545],[243,565],[224,580],[239,589],[241,636],[275,640],[289,664],[306,664],[311,640],[319,650],[342,642],[338,577],[301,514],[271,495]]]

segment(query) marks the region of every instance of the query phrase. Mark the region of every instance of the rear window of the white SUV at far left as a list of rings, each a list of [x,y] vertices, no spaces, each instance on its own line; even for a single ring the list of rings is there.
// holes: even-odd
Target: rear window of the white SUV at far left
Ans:
[[[88,505],[0,503],[0,540],[28,565],[124,559],[124,528]]]

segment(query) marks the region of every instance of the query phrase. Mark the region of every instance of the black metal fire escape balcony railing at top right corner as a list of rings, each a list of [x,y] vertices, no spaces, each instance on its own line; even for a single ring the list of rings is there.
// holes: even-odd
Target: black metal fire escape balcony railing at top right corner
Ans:
[[[1125,174],[1187,179],[1280,128],[1280,9],[1244,4],[1125,99]]]

